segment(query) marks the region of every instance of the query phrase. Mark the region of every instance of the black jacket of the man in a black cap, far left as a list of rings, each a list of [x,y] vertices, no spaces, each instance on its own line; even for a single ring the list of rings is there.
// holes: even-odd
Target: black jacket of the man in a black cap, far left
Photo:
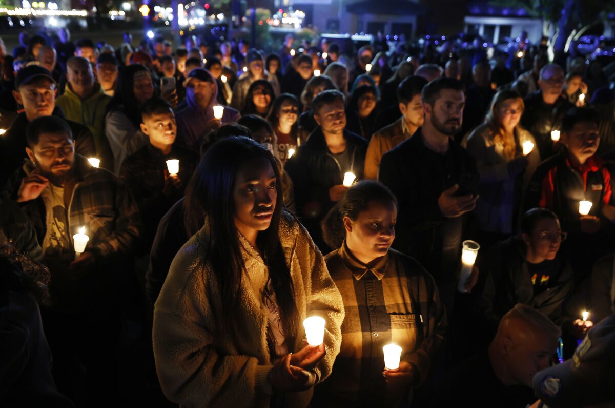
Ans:
[[[64,120],[62,109],[56,107],[54,116],[58,116]],[[84,157],[96,156],[96,145],[92,132],[82,124],[66,120],[68,126],[73,133],[75,144],[75,153],[79,153]],[[0,186],[4,186],[7,179],[11,177],[18,168],[23,165],[23,162],[28,158],[26,154],[26,129],[30,121],[26,117],[26,113],[22,112],[17,116],[17,119],[10,126],[4,136],[0,137]]]

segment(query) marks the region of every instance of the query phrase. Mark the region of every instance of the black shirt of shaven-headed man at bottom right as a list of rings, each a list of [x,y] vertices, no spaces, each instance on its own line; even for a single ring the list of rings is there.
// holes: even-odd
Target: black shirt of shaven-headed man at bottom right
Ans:
[[[432,407],[525,408],[537,400],[529,386],[502,384],[485,350],[448,372]]]

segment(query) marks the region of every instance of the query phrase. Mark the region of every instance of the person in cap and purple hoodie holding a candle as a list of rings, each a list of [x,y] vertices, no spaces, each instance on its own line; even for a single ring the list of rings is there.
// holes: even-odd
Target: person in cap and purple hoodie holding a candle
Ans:
[[[190,71],[186,82],[186,107],[177,112],[177,143],[192,150],[199,150],[204,136],[219,126],[213,116],[213,107],[218,102],[218,84],[213,75],[204,68]],[[224,106],[222,123],[236,122],[240,118],[237,110]]]

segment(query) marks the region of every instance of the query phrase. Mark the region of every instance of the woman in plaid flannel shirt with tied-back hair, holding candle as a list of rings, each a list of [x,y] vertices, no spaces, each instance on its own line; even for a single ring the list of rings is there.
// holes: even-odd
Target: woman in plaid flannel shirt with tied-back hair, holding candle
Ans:
[[[446,329],[434,279],[391,249],[397,200],[376,181],[348,189],[322,223],[325,256],[344,301],[342,343],[331,376],[315,389],[313,406],[405,406],[426,383]],[[383,346],[402,348],[399,368],[385,369]]]

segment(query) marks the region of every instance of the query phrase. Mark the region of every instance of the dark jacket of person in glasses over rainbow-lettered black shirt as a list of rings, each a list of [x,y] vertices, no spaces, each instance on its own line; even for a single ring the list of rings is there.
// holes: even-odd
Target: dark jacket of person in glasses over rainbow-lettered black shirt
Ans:
[[[535,294],[525,260],[525,244],[519,237],[499,243],[480,260],[478,308],[493,330],[498,327],[502,316],[517,303],[541,311],[558,325],[566,325],[571,320],[562,306],[574,288],[573,271],[561,256],[553,262],[557,264],[555,276],[549,276],[546,289]]]

